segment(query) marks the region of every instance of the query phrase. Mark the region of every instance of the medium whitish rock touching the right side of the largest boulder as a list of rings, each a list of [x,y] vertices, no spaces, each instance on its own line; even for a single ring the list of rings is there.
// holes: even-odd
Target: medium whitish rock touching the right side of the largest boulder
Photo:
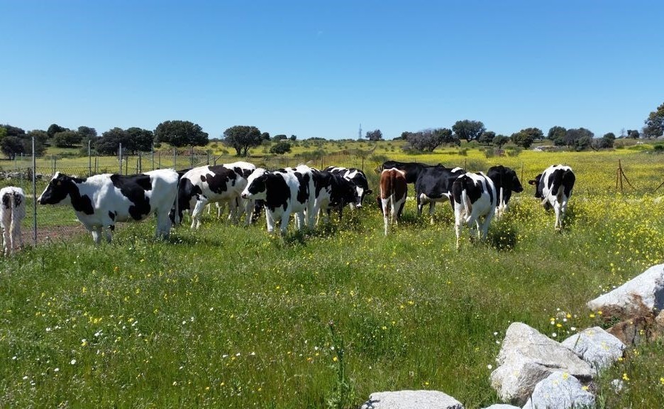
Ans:
[[[620,339],[600,327],[584,329],[565,339],[561,344],[590,364],[596,373],[611,366],[622,356],[626,348]]]

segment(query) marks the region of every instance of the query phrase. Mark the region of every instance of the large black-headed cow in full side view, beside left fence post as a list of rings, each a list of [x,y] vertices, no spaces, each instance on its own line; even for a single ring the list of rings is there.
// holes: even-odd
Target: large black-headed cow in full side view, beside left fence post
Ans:
[[[99,244],[105,228],[106,241],[110,242],[116,222],[140,221],[153,213],[157,216],[157,238],[167,237],[171,228],[168,213],[176,194],[177,172],[172,169],[138,175],[104,173],[83,179],[57,172],[37,200],[41,205],[71,203],[76,217]]]

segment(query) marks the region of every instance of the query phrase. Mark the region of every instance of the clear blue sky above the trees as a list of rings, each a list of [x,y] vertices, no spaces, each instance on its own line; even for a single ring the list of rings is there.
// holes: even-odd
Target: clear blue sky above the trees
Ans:
[[[602,136],[664,102],[663,1],[0,0],[0,123]]]

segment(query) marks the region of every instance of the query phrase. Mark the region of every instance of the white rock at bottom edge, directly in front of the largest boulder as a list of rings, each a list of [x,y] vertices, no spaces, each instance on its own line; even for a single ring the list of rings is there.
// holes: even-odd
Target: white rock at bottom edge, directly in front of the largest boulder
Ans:
[[[594,408],[594,396],[581,382],[565,372],[551,373],[535,387],[523,409]]]

